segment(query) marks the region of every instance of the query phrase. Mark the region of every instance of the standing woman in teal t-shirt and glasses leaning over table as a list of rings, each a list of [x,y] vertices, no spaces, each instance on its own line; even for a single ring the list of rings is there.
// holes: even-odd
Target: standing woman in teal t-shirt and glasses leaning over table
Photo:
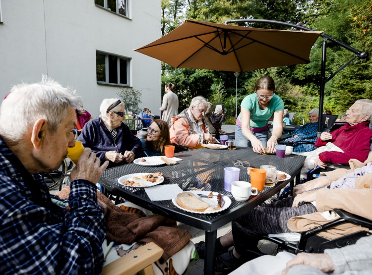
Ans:
[[[271,76],[264,75],[256,82],[254,93],[244,98],[235,126],[237,146],[251,147],[257,153],[264,152],[264,148],[268,147],[270,152],[275,152],[277,139],[283,132],[284,103],[274,91],[274,80]],[[267,122],[273,114],[272,136],[267,140]]]

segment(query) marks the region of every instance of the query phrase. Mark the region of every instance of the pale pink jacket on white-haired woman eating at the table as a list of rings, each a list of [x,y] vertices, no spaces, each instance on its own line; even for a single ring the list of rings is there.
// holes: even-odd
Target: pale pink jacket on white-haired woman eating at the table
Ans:
[[[203,119],[204,133],[209,133],[209,127]],[[191,121],[186,112],[182,112],[176,117],[172,117],[172,125],[170,128],[171,143],[174,145],[187,146],[189,148],[202,144],[204,141],[203,133],[192,134]]]

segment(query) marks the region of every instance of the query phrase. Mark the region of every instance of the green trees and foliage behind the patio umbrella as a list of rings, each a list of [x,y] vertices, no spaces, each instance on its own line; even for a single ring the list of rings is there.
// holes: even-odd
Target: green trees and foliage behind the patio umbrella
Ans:
[[[271,19],[323,31],[359,51],[372,54],[371,0],[162,0],[162,12],[163,35],[185,19],[216,23],[242,18]],[[286,28],[258,23],[246,25]],[[275,80],[275,93],[282,97],[289,111],[297,113],[295,123],[300,124],[300,117],[308,121],[308,111],[319,107],[321,44],[322,38],[319,38],[311,50],[309,64],[241,73],[238,78],[238,108],[243,98],[253,92],[256,79],[268,73]],[[353,55],[327,42],[326,77]],[[372,99],[371,58],[355,60],[326,84],[324,111],[331,110],[341,116],[355,100]],[[162,83],[166,82],[177,87],[180,111],[188,107],[192,97],[202,95],[214,105],[223,104],[228,112],[225,122],[234,123],[236,78],[232,72],[175,69],[163,63]]]

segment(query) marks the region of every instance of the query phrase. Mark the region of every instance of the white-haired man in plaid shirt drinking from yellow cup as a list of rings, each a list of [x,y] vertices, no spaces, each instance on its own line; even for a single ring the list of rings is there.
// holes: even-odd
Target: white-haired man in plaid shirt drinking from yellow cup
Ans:
[[[43,78],[16,85],[0,110],[0,273],[99,274],[105,238],[96,182],[108,162],[85,149],[72,169],[69,199],[50,195],[40,172],[73,147],[79,98]]]

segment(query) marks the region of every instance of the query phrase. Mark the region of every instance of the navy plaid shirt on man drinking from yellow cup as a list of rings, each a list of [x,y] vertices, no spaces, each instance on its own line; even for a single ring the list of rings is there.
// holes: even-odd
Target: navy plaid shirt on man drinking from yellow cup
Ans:
[[[95,185],[74,180],[60,200],[1,138],[0,167],[0,274],[99,274],[106,226]]]

